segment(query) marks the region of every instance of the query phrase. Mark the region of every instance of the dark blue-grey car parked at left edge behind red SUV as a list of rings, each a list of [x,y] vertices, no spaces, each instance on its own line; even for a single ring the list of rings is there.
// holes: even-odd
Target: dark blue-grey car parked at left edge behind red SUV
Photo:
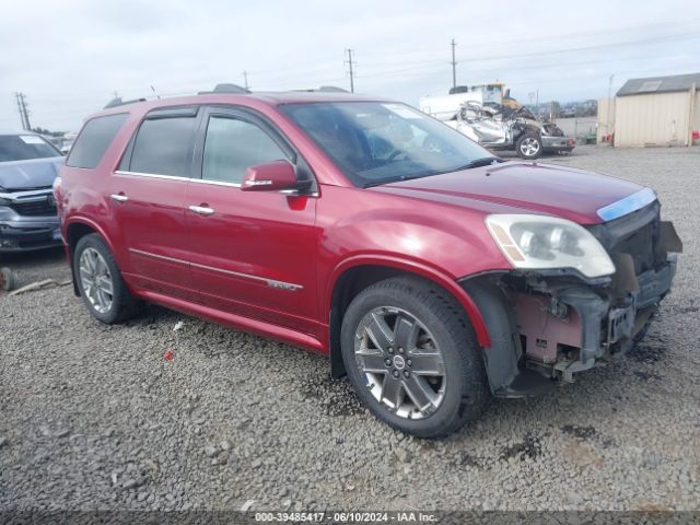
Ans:
[[[62,164],[32,131],[0,133],[0,254],[61,245],[51,185]]]

